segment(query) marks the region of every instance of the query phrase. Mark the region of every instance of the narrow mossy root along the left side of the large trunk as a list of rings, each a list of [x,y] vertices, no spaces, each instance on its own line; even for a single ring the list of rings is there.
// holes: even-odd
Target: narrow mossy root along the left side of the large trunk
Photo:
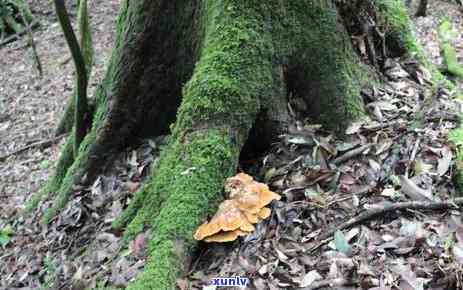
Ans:
[[[56,172],[51,181],[33,197],[32,201],[28,204],[29,209],[33,209],[38,201],[42,198],[46,198],[50,193],[53,196],[49,198],[53,199],[53,206],[47,210],[44,215],[42,222],[48,223],[56,213],[58,213],[67,203],[70,194],[73,191],[73,187],[80,183],[83,177],[87,176],[90,180],[95,174],[95,171],[101,166],[105,158],[111,154],[112,150],[119,142],[119,139],[113,138],[115,132],[119,134],[121,140],[127,136],[127,130],[122,130],[122,126],[112,125],[111,121],[118,120],[118,115],[111,115],[108,113],[108,95],[107,92],[111,90],[113,97],[118,98],[125,96],[124,92],[120,92],[116,82],[121,82],[121,78],[126,72],[126,67],[119,65],[124,63],[121,59],[125,53],[123,51],[123,44],[126,42],[133,42],[131,37],[137,33],[126,33],[127,25],[126,19],[128,15],[128,1],[124,0],[121,2],[121,12],[119,14],[117,23],[117,37],[115,49],[112,52],[111,59],[108,65],[106,76],[102,82],[102,85],[98,87],[95,92],[95,114],[93,114],[92,128],[90,132],[84,138],[80,145],[77,157],[74,158],[74,142],[72,141],[73,136],[66,144],[62,151],[60,161]],[[138,8],[136,6],[135,8]],[[137,12],[137,11],[135,11]],[[138,28],[138,27],[135,27]],[[129,54],[129,53],[127,53]],[[109,118],[112,118],[111,121]],[[123,132],[123,133],[121,133]],[[98,135],[98,138],[97,138]]]

